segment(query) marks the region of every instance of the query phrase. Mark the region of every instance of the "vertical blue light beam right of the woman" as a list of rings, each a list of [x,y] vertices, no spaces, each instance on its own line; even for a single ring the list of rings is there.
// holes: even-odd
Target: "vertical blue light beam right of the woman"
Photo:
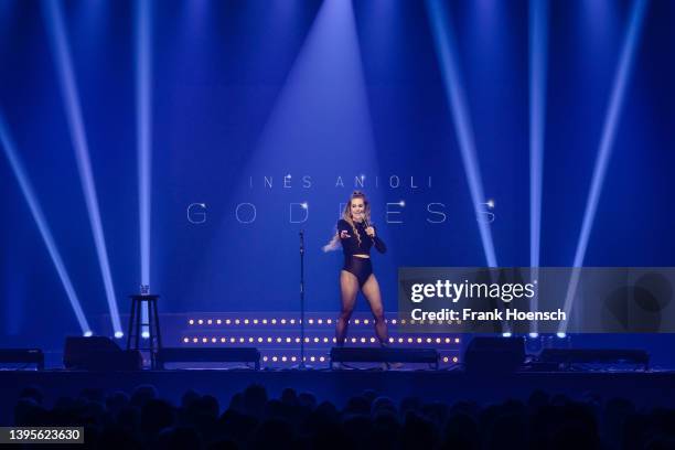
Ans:
[[[548,56],[548,0],[529,0],[529,266],[538,278],[542,236],[542,180],[546,124],[546,74]],[[532,310],[536,311],[535,294]],[[537,322],[532,322],[537,334]]]

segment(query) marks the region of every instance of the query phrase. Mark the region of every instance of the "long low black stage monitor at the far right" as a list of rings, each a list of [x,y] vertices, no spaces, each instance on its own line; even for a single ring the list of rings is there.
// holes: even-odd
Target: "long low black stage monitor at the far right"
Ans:
[[[644,350],[624,349],[546,349],[537,358],[537,365],[557,369],[570,368],[576,364],[604,366],[636,365],[645,371],[650,367],[650,354]]]

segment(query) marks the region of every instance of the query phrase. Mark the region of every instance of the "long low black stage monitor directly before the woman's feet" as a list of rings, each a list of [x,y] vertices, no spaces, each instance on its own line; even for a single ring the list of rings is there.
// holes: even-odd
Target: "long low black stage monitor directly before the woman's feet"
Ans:
[[[331,349],[331,363],[415,363],[432,364],[438,368],[438,360],[436,349]]]

